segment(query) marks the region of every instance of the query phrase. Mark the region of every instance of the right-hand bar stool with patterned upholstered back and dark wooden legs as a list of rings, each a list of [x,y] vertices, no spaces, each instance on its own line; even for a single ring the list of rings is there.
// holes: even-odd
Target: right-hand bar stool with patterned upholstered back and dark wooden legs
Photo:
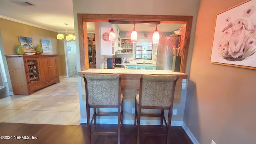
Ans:
[[[141,75],[140,89],[135,92],[135,115],[134,126],[137,122],[137,144],[140,144],[140,117],[160,117],[160,126],[163,121],[166,126],[166,142],[170,144],[170,128],[172,119],[172,106],[174,99],[174,90],[176,86],[177,76],[156,76]],[[141,109],[158,109],[160,114],[142,114]],[[164,117],[164,110],[168,110],[168,123]]]

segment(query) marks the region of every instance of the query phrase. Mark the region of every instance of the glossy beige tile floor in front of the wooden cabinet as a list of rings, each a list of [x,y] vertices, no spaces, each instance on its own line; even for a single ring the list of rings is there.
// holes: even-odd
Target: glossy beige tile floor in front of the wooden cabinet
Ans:
[[[0,99],[0,122],[79,125],[78,78],[60,78],[31,95]]]

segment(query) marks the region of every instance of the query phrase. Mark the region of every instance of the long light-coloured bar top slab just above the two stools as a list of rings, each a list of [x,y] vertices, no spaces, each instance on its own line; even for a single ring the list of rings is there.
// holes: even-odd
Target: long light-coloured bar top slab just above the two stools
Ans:
[[[148,64],[146,64],[148,65]],[[78,76],[83,76],[86,73],[96,74],[122,74],[122,78],[140,78],[141,74],[154,75],[176,75],[179,78],[188,78],[188,74],[182,72],[172,72],[171,70],[128,70],[128,69],[97,69],[92,68],[78,72]]]

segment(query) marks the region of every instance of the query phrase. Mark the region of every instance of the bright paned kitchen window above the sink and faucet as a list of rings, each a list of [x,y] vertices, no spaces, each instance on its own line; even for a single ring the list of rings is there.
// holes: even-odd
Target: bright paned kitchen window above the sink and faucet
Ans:
[[[152,60],[152,43],[150,42],[137,42],[136,43],[136,59],[147,59]]]

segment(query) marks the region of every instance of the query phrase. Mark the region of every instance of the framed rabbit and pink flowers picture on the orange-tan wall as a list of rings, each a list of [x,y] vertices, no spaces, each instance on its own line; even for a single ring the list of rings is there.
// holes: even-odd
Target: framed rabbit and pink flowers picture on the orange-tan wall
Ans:
[[[210,62],[256,70],[256,0],[216,16]]]

